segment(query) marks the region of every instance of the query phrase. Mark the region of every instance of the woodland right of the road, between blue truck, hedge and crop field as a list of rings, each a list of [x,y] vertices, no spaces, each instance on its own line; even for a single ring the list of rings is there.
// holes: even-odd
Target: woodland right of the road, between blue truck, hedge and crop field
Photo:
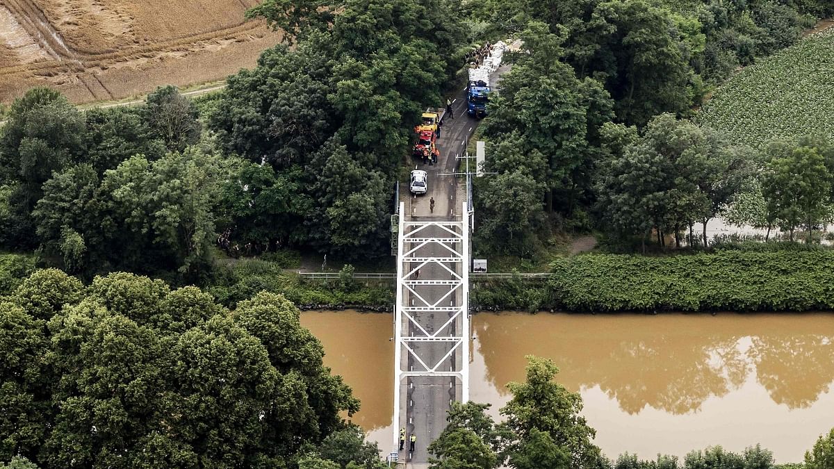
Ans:
[[[658,244],[674,235],[676,245],[704,245],[706,224],[719,214],[780,228],[791,240],[796,229],[810,237],[831,219],[834,159],[824,139],[774,142],[760,154],[689,119],[731,71],[795,43],[831,5],[557,0],[549,8],[470,8],[487,18],[488,31],[520,33],[526,49],[484,123],[487,167],[498,173],[476,191],[476,245],[485,254],[530,258],[559,229],[600,229],[644,246],[651,232]],[[744,209],[727,214],[735,204]],[[696,223],[700,234],[692,233]]]

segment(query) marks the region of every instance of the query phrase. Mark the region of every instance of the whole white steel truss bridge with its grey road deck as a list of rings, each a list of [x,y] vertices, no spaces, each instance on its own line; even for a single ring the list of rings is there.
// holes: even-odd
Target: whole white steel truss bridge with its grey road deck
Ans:
[[[427,461],[426,446],[445,428],[452,401],[469,401],[468,205],[457,216],[428,218],[407,216],[399,204],[392,451],[399,461]]]

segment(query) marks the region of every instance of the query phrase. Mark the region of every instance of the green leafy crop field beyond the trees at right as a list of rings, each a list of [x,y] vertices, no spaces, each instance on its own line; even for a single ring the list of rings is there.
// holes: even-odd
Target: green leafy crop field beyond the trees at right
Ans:
[[[698,121],[756,149],[806,134],[834,139],[834,28],[736,73]]]

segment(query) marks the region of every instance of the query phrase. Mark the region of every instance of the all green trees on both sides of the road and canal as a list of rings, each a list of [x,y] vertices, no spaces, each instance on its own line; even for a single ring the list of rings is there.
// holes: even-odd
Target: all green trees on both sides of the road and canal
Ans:
[[[810,240],[834,207],[834,144],[808,129],[758,152],[691,117],[736,68],[832,13],[826,0],[265,0],[249,16],[287,43],[201,103],[166,87],[81,111],[30,90],[0,129],[0,249],[25,254],[0,265],[0,460],[383,466],[344,422],[359,402],[295,305],[258,293],[261,279],[236,279],[222,302],[177,287],[219,283],[217,245],[388,255],[413,126],[475,43],[524,44],[483,122],[496,174],[476,186],[478,250],[529,258],[560,229],[698,245],[694,224],[718,214]],[[60,270],[23,275],[36,263]],[[532,360],[505,423],[455,406],[433,465],[681,466],[608,461],[555,373]],[[832,445],[821,437],[804,467],[830,468]],[[683,466],[774,465],[751,447]]]

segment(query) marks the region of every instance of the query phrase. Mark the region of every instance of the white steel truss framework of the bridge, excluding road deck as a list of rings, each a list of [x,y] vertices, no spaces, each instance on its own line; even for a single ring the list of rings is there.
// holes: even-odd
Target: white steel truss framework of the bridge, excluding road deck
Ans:
[[[454,376],[460,380],[460,399],[469,401],[470,318],[469,318],[469,266],[470,227],[469,209],[463,203],[460,220],[412,221],[405,216],[404,204],[399,204],[399,230],[397,250],[397,303],[394,312],[394,436],[393,447],[398,446],[400,386],[410,376]],[[431,236],[431,233],[441,233]],[[426,255],[426,248],[440,247],[443,255]],[[420,269],[438,265],[443,278],[418,278]],[[415,275],[416,274],[416,275]],[[438,300],[427,300],[415,289],[430,286]],[[455,304],[460,295],[460,304]],[[406,300],[410,297],[410,300]],[[449,315],[449,320],[430,332],[415,316],[439,313]],[[424,315],[425,317],[426,315]],[[440,360],[426,362],[415,352],[415,344],[438,344],[445,350]],[[460,351],[455,366],[442,369],[450,356]],[[414,359],[412,366],[408,360]],[[451,368],[451,369],[449,369]]]

